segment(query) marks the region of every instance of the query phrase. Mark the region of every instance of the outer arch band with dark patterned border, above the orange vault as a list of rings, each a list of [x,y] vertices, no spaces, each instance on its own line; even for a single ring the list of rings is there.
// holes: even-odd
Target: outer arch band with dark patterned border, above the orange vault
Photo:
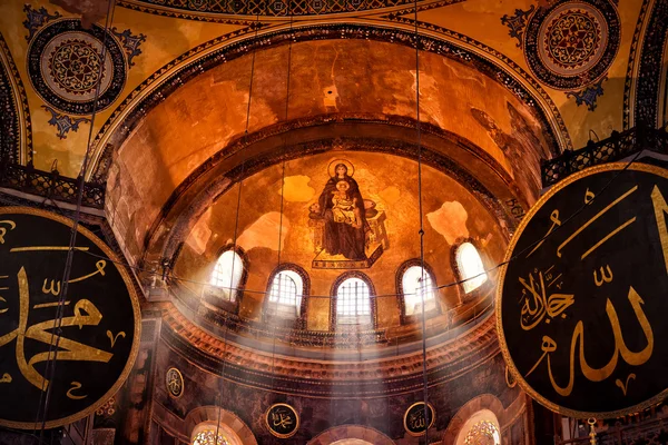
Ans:
[[[331,23],[327,26],[306,24],[298,28],[291,27],[289,29],[278,27],[256,37],[239,39],[232,43],[209,41],[202,46],[202,48],[209,48],[206,53],[198,55],[194,60],[188,60],[187,63],[185,63],[185,60],[193,53],[178,57],[157,70],[126,97],[118,107],[117,112],[105,122],[94,140],[95,154],[87,179],[106,182],[110,164],[108,160],[112,156],[112,151],[124,144],[131,130],[138,126],[139,120],[180,86],[199,73],[218,66],[222,60],[228,62],[258,48],[265,49],[285,44],[288,40],[304,42],[337,34],[348,40],[364,39],[391,41],[401,46],[413,44],[412,30],[409,31],[397,27],[387,32],[385,28],[355,22]],[[456,39],[443,34],[438,37],[421,34],[421,40],[420,44],[424,51],[436,52],[443,57],[474,66],[475,69],[490,75],[490,78],[498,79],[500,85],[504,85],[513,95],[521,97],[527,103],[531,103],[532,108],[538,105],[536,112],[549,134],[550,149],[553,154],[563,149],[572,149],[570,136],[564,131],[559,109],[542,90],[542,87],[520,67],[509,66],[508,60],[499,58],[495,51],[483,44],[478,46],[483,48],[482,51],[470,51],[466,46],[462,46]],[[197,55],[196,50],[191,52]],[[455,53],[460,56],[454,56]],[[177,68],[171,69],[174,67]],[[169,73],[164,76],[167,71]]]

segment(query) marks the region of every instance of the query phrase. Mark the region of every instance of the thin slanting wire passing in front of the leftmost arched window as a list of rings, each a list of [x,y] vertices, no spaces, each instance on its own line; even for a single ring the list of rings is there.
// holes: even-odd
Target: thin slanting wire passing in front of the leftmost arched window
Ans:
[[[254,33],[254,41],[257,41],[257,34],[259,32],[259,10],[257,11],[257,14],[255,16],[255,33]],[[255,79],[255,56],[257,55],[257,50],[253,50],[253,55],[250,56],[250,79],[248,81],[248,106],[246,107],[246,128],[244,130],[244,142],[247,144],[248,141],[248,128],[249,128],[249,122],[250,122],[250,100],[253,99],[253,80]],[[245,168],[246,168],[246,158],[242,156],[242,168],[240,168],[240,172],[239,172],[239,186],[237,189],[237,202],[236,202],[236,214],[235,214],[235,220],[234,220],[234,236],[233,236],[233,253],[235,256],[233,256],[233,260],[232,260],[232,270],[229,274],[229,286],[227,288],[227,290],[229,291],[229,296],[233,295],[234,293],[234,298],[235,298],[235,303],[238,304],[238,293],[239,293],[239,283],[236,283],[233,286],[233,280],[234,280],[234,268],[236,265],[236,258],[238,256],[237,254],[237,239],[238,239],[238,229],[239,229],[239,209],[242,206],[242,188],[244,185],[244,172],[245,172]],[[243,259],[242,259],[242,268],[244,267],[243,264]],[[243,270],[242,270],[242,275],[243,275]],[[225,330],[223,334],[223,366],[220,368],[220,383],[218,384],[218,396],[217,396],[217,421],[216,421],[216,434],[215,434],[215,438],[214,438],[214,444],[217,445],[218,444],[218,435],[220,433],[220,416],[222,416],[222,412],[223,412],[223,393],[225,389],[225,368],[227,365],[227,334],[229,332],[229,318],[227,313],[225,314]]]

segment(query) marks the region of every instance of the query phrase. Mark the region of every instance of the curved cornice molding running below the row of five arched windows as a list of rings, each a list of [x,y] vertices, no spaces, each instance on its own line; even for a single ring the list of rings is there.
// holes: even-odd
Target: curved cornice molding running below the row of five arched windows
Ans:
[[[414,392],[423,385],[421,350],[391,358],[365,358],[363,364],[273,357],[229,339],[226,344],[171,304],[161,309],[161,340],[174,353],[207,373],[250,387],[314,397],[376,397]],[[452,380],[499,352],[494,317],[489,316],[454,339],[428,349],[430,385]]]

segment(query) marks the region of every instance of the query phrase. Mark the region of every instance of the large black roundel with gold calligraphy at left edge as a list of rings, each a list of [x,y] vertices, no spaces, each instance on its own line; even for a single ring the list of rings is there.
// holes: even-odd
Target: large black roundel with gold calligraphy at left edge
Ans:
[[[66,291],[71,227],[48,211],[0,208],[2,426],[33,428],[45,418],[47,390],[47,428],[89,415],[116,394],[137,356],[140,313],[130,278],[80,226]]]

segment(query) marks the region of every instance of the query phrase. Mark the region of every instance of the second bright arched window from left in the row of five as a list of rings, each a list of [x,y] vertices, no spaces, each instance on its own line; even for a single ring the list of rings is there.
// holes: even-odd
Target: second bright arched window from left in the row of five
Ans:
[[[266,312],[282,318],[298,317],[304,290],[304,279],[301,274],[291,269],[279,270],[271,283]]]

